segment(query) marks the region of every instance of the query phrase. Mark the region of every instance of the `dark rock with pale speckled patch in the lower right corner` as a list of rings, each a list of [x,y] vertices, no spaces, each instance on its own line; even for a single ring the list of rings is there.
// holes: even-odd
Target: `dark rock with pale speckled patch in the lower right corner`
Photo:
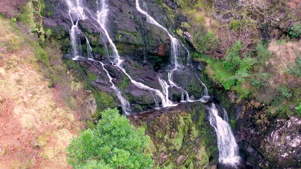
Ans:
[[[240,112],[239,133],[249,162],[258,164],[257,167],[301,166],[300,118],[273,118],[247,106]]]

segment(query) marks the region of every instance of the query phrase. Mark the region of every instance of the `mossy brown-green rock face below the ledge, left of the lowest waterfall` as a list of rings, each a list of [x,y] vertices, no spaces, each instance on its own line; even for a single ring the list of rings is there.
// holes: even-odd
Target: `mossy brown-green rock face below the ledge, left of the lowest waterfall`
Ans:
[[[216,137],[207,117],[201,103],[129,116],[135,125],[145,126],[146,134],[150,136],[146,151],[153,153],[155,166],[170,168],[216,166]]]

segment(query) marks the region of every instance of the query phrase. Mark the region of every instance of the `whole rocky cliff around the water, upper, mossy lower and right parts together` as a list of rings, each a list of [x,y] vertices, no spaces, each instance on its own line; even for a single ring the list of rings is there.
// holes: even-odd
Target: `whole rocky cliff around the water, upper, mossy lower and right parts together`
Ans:
[[[79,2],[83,3],[82,6],[85,7],[83,12],[87,18],[90,17],[89,13],[93,13],[93,16],[97,12],[95,4],[98,1]],[[44,0],[44,26],[51,29],[52,36],[59,41],[68,70],[74,78],[84,83],[86,90],[92,91],[97,112],[108,107],[118,107],[121,110],[121,103],[111,88],[112,83],[108,74],[112,77],[112,82],[130,104],[128,118],[136,126],[146,129],[149,143],[145,151],[153,154],[155,166],[169,168],[301,166],[301,120],[290,117],[288,120],[272,118],[269,122],[258,122],[262,118],[271,117],[264,117],[260,107],[254,108],[247,101],[232,103],[229,93],[205,74],[205,62],[189,61],[189,54],[184,48],[188,51],[194,50],[193,42],[190,41],[190,36],[193,35],[181,27],[187,18],[177,11],[178,7],[174,1],[144,0],[139,1],[139,6],[182,43],[180,46],[183,47],[179,49],[178,62],[181,65],[179,67],[171,61],[172,42],[167,32],[150,23],[146,15],[136,9],[135,0],[106,2],[109,9],[106,30],[118,50],[120,59],[123,60],[122,68],[135,81],[162,93],[164,89],[160,85],[160,79],[165,80],[170,87],[164,94],[167,95],[167,100],[178,104],[177,106],[163,108],[162,100],[155,92],[137,87],[118,66],[111,64],[114,60],[114,51],[110,48],[108,39],[104,38],[104,32],[95,26],[97,23],[92,19],[81,18],[78,21],[78,28],[82,32],[78,35],[82,55],[73,61],[70,32],[72,24],[77,20],[72,20],[74,23],[70,21],[66,1]],[[215,5],[218,8],[224,6],[230,8],[229,5],[220,3],[216,1]],[[180,37],[175,33],[174,30],[179,30],[179,27],[186,36]],[[86,59],[89,57],[89,47],[92,49],[93,60]],[[174,86],[168,77],[169,73],[172,74],[171,82],[176,84]],[[206,92],[209,92],[210,96]],[[204,96],[208,97],[202,100]],[[239,147],[237,153],[240,156],[236,156],[240,158],[237,165],[219,163],[220,140],[216,135],[217,129],[213,127],[217,120],[214,120],[213,126],[209,120],[212,113],[210,107],[214,103],[217,104],[218,116],[231,125],[234,133]],[[87,115],[89,118],[90,116]],[[232,134],[231,131],[230,133]]]

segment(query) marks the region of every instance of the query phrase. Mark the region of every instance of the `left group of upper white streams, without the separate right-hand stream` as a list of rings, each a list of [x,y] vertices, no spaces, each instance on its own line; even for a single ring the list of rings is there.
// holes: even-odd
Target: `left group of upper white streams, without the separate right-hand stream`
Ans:
[[[99,31],[101,31],[105,35],[105,38],[108,40],[108,42],[110,44],[110,47],[111,47],[111,49],[113,51],[113,57],[114,57],[113,66],[116,66],[117,68],[119,68],[131,80],[131,82],[137,88],[142,89],[142,90],[146,90],[146,91],[149,91],[149,92],[152,92],[152,93],[155,93],[157,96],[159,96],[160,99],[162,100],[162,106],[163,107],[177,106],[178,105],[178,104],[172,103],[172,101],[170,101],[168,99],[168,91],[166,92],[166,87],[164,87],[164,89],[163,89],[163,93],[164,93],[163,94],[160,90],[150,88],[150,87],[144,85],[141,82],[137,82],[122,67],[123,60],[120,59],[120,55],[118,54],[118,50],[117,50],[115,44],[113,43],[112,39],[110,38],[109,33],[108,33],[107,29],[106,29],[106,20],[107,20],[108,12],[109,12],[106,0],[101,0],[100,4],[99,4],[98,0],[96,1],[96,5],[97,5],[96,18],[93,17],[93,14],[89,11],[89,9],[83,7],[82,3],[79,0],[77,0],[75,2],[76,3],[75,5],[71,2],[71,0],[67,0],[66,2],[67,2],[67,5],[68,5],[68,8],[69,8],[70,20],[72,21],[72,28],[73,29],[71,28],[71,30],[74,30],[74,32],[71,31],[71,33],[70,33],[70,35],[71,35],[71,41],[72,41],[71,45],[72,45],[72,48],[74,50],[74,53],[76,53],[76,54],[74,54],[74,60],[76,60],[78,58],[82,58],[81,55],[79,54],[80,53],[79,51],[81,50],[81,46],[78,45],[78,43],[76,41],[76,34],[75,34],[76,33],[75,31],[81,32],[78,29],[78,27],[77,27],[78,21],[79,20],[83,20],[83,19],[88,19],[88,20],[91,21],[91,19],[92,19],[93,21],[96,21],[98,23],[98,26],[95,25],[92,21],[91,21],[91,23]],[[90,15],[89,17],[86,16],[85,11],[89,13],[89,15]],[[77,16],[76,24],[73,24],[72,14]],[[82,35],[85,36],[84,34],[82,34]],[[74,40],[74,43],[73,43],[73,40]],[[89,41],[88,41],[87,38],[86,38],[86,40],[87,40],[87,45],[88,45],[88,47],[87,47],[88,51],[91,51],[90,50],[91,47],[89,45]],[[106,51],[108,51],[106,45],[105,45],[105,47],[106,47]],[[92,59],[90,59],[90,60],[92,60]],[[94,61],[94,60],[92,60],[92,61]],[[96,62],[98,62],[98,61],[96,61]],[[100,63],[103,65],[102,62],[100,62]],[[104,66],[103,66],[103,68],[104,68]],[[107,70],[105,68],[104,68],[104,70],[107,72]],[[128,113],[128,111],[129,111],[129,102],[122,97],[120,90],[113,84],[113,82],[111,80],[112,77],[110,76],[110,74],[108,72],[107,72],[107,75],[108,75],[108,77],[110,79],[110,82],[112,84],[111,88],[114,89],[114,91],[115,91],[118,99],[120,100],[120,102],[122,104],[122,110],[125,111],[126,113]],[[161,82],[166,83],[165,80],[162,80],[160,78],[159,78],[159,81],[160,81],[160,83]]]

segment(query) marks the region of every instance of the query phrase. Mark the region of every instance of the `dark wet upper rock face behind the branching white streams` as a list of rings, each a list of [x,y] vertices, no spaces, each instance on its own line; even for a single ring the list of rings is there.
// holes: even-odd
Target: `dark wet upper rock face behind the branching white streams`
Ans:
[[[155,3],[153,1],[145,1],[143,2],[143,8],[167,29],[175,29],[176,21],[174,12],[166,5],[169,4],[172,6],[174,3],[168,2],[169,1],[165,3]],[[66,52],[67,56],[71,48],[69,29],[72,23],[70,22],[66,3],[62,1],[45,0],[45,4],[44,24],[53,30],[54,36],[60,41],[62,49]],[[95,4],[95,1],[85,1],[85,7],[87,7],[91,13],[96,13]],[[116,45],[120,57],[124,59],[122,67],[126,69],[134,80],[151,88],[162,90],[159,77],[168,81],[167,72],[172,69],[172,65],[170,66],[170,39],[168,34],[159,26],[148,23],[145,15],[136,10],[134,0],[108,1],[108,6],[109,17],[106,27],[109,36]],[[84,13],[89,14],[87,10],[84,10]],[[160,98],[153,92],[137,88],[119,68],[110,66],[110,62],[104,50],[105,44],[107,46],[110,45],[106,38],[101,37],[101,32],[94,26],[94,24],[97,23],[92,22],[94,21],[88,19],[80,20],[78,27],[88,38],[94,59],[108,64],[105,65],[105,67],[112,76],[112,81],[120,89],[123,97],[130,102],[134,112],[155,108],[155,100],[160,104]],[[171,30],[168,31],[172,33]],[[83,55],[85,56],[84,53],[87,53],[87,47],[84,36],[81,37],[81,44]],[[187,58],[184,55],[185,54],[183,54],[183,58],[179,58],[179,62],[186,65]],[[146,57],[146,62],[143,62],[144,57]],[[106,95],[111,95],[112,98],[116,100],[113,101],[114,105],[120,106],[116,95],[110,88],[111,83],[108,80],[106,72],[102,69],[102,66],[99,63],[97,64],[91,61],[80,60],[77,62],[79,64],[77,68],[80,70],[76,70],[76,72],[81,74],[80,79],[87,81],[91,91],[96,92],[97,95],[103,92],[105,92]],[[195,99],[199,99],[202,97],[204,86],[201,85],[198,78],[202,79],[203,77],[200,75],[202,72],[195,70],[193,66],[189,68],[183,66],[183,69],[174,72],[173,80],[177,82],[179,87],[188,91],[190,96],[193,95]],[[97,78],[91,79],[89,77],[91,74],[96,75]],[[89,79],[87,80],[85,77]],[[181,94],[181,89],[173,87],[169,89],[168,98],[173,101],[180,101]],[[101,104],[98,105],[100,106]]]

